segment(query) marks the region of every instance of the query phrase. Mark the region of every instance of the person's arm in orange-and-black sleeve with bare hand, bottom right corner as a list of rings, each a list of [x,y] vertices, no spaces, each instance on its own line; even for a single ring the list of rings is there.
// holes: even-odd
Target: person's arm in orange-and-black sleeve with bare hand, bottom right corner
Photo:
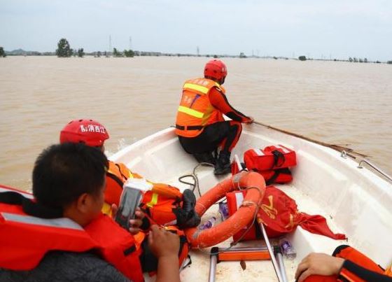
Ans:
[[[295,272],[298,282],[392,281],[391,266],[382,269],[377,263],[347,245],[338,246],[332,256],[310,253]]]

